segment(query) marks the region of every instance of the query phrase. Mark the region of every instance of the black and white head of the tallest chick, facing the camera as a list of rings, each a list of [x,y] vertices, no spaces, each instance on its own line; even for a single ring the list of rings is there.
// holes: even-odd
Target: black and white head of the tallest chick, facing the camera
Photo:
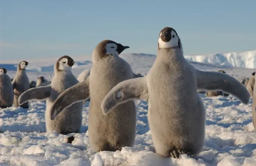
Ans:
[[[181,39],[175,29],[170,27],[163,28],[159,33],[158,48],[181,48]]]

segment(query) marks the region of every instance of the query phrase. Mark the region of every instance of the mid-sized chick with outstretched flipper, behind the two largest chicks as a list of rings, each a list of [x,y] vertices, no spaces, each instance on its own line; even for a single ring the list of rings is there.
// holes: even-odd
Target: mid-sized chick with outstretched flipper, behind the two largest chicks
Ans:
[[[65,108],[54,120],[50,119],[50,108],[55,99],[65,89],[74,86],[78,80],[71,72],[74,61],[65,55],[59,58],[54,66],[52,83],[47,86],[35,87],[27,90],[19,96],[19,103],[28,100],[46,100],[46,131],[55,131],[60,134],[80,133],[82,123],[83,103],[78,102]]]

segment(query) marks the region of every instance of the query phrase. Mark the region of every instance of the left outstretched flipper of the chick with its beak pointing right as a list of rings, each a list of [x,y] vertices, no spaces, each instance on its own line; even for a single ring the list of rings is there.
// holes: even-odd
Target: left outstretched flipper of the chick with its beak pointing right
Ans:
[[[87,100],[89,97],[89,77],[87,77],[86,80],[71,86],[58,96],[50,108],[50,118],[53,120],[64,109],[74,103]]]

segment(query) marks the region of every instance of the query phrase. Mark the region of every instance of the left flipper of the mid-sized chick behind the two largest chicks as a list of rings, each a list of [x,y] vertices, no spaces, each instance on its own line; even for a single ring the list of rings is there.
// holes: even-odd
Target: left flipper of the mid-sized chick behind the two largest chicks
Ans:
[[[18,98],[19,105],[22,105],[25,102],[33,99],[45,100],[46,98],[49,98],[51,94],[51,89],[52,87],[50,85],[28,89],[19,96]]]

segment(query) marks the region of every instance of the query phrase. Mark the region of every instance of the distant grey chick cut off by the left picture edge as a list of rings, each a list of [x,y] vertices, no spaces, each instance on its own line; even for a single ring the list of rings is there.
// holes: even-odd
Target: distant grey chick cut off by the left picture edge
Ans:
[[[5,68],[0,68],[0,108],[7,108],[13,103],[12,81]]]

